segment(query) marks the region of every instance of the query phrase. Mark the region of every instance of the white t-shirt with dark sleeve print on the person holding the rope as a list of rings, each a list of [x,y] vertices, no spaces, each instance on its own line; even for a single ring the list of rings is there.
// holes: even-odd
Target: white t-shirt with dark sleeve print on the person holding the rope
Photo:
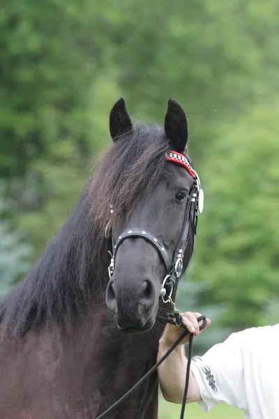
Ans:
[[[279,324],[233,333],[194,357],[202,410],[225,402],[246,419],[279,419]]]

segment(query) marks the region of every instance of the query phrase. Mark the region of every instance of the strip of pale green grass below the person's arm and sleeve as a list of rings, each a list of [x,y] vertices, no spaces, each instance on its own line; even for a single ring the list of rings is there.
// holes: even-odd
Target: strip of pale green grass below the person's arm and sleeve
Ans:
[[[179,419],[181,404],[166,402],[163,397],[159,399],[159,419]],[[188,404],[185,410],[185,419],[243,419],[243,413],[239,409],[220,404],[209,413],[204,413],[197,403]]]

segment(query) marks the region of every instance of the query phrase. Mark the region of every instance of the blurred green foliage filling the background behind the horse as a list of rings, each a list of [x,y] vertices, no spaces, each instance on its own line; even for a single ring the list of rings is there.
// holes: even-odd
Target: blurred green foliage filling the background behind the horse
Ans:
[[[278,9],[276,0],[1,6],[1,286],[27,270],[21,251],[31,246],[34,260],[65,221],[109,144],[114,101],[122,95],[133,117],[162,122],[173,96],[206,196],[180,307],[212,314],[212,340],[276,322]]]

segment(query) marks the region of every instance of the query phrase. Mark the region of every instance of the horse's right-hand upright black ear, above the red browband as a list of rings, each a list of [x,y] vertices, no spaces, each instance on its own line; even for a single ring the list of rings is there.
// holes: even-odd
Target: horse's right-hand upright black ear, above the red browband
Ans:
[[[165,116],[165,134],[171,140],[176,152],[183,152],[188,140],[187,119],[179,103],[169,98]]]

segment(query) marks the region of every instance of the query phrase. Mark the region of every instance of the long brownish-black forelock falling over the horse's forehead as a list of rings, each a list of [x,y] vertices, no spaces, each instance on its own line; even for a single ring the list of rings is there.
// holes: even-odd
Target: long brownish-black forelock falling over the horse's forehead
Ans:
[[[103,230],[110,218],[131,214],[158,184],[165,166],[169,142],[158,125],[138,124],[105,152],[91,179],[91,215],[98,229]]]

